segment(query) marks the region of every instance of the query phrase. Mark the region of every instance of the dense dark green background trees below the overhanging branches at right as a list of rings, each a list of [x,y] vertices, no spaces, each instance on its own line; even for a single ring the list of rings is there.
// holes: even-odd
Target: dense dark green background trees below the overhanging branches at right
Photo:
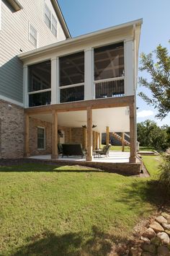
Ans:
[[[170,146],[169,126],[161,128],[152,120],[137,124],[137,134],[140,146],[153,146],[158,151],[164,151]]]

